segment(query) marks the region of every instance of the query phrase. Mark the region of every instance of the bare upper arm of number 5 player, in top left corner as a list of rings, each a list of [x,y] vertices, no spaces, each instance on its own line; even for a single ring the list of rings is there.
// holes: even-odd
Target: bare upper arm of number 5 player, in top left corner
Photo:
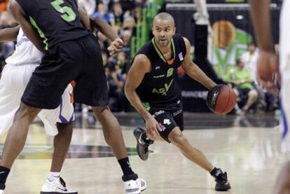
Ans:
[[[15,20],[21,25],[22,30],[26,34],[27,38],[32,41],[37,49],[39,49],[41,52],[44,52],[45,49],[43,48],[43,43],[39,37],[39,34],[27,20],[27,15],[25,15],[25,12],[22,10],[18,2],[15,0],[11,1],[9,8]]]

